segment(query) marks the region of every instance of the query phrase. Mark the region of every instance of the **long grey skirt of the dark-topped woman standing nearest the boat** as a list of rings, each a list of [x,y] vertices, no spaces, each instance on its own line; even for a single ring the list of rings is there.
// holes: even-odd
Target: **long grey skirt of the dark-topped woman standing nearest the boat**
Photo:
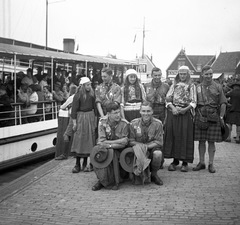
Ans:
[[[78,112],[77,130],[73,135],[71,152],[79,157],[89,156],[95,142],[94,112]]]

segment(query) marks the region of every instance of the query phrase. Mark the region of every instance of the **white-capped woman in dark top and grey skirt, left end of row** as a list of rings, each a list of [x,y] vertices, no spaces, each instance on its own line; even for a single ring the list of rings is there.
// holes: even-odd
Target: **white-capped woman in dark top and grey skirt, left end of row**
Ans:
[[[71,152],[76,156],[76,165],[73,173],[80,170],[91,171],[89,164],[91,150],[95,145],[95,96],[88,77],[82,77],[80,88],[74,95],[72,103],[73,142]],[[83,158],[83,165],[80,165],[80,158]]]

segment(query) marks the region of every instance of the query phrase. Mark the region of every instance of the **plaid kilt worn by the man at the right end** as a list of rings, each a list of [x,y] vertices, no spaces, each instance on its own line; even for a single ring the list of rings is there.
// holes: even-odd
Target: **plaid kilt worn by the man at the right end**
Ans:
[[[198,127],[200,114],[197,111],[195,116],[194,126],[194,140],[195,141],[210,141],[210,142],[222,142],[222,133],[220,121],[217,123],[208,122],[208,129],[201,130]]]

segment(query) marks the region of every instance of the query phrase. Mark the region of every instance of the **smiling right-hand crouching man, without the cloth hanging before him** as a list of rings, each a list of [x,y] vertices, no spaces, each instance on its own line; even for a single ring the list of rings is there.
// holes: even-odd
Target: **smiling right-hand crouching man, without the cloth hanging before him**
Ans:
[[[141,118],[137,118],[130,123],[130,146],[146,147],[151,159],[150,171],[151,180],[157,185],[163,185],[158,177],[158,170],[161,167],[163,156],[163,126],[160,120],[153,117],[153,109],[150,102],[143,102],[140,109]]]

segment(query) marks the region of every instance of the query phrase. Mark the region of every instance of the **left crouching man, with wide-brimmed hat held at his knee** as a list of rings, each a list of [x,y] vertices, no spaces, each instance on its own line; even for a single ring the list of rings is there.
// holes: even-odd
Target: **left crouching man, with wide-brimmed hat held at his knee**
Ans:
[[[98,125],[98,142],[93,147],[90,160],[98,182],[93,191],[102,187],[117,190],[121,181],[119,156],[128,144],[129,124],[120,117],[120,104],[111,102],[106,106],[107,115]]]

